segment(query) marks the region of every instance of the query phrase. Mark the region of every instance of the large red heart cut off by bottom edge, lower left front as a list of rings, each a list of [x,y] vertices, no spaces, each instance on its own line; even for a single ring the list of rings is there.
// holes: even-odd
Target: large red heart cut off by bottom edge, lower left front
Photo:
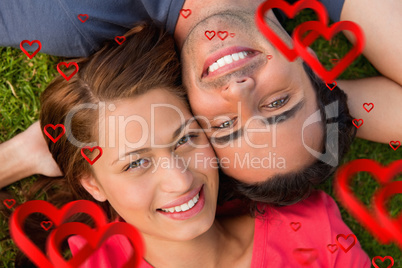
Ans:
[[[66,262],[58,252],[58,249],[65,238],[72,234],[78,234],[86,238],[88,243]],[[145,251],[144,243],[137,229],[125,222],[110,223],[101,226],[97,230],[91,229],[88,225],[80,222],[65,223],[49,235],[47,252],[54,267],[80,267],[107,238],[116,234],[125,235],[134,246],[134,254],[131,255],[131,258],[123,267],[139,267]]]

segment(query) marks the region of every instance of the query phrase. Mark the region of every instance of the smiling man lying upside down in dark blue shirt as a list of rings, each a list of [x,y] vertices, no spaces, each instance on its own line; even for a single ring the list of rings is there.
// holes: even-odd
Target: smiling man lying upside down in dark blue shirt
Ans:
[[[8,28],[12,27],[7,28],[7,25],[12,25],[10,21],[17,20],[18,13],[15,13],[16,10],[25,10],[29,6],[18,6],[18,1],[3,2],[0,4],[0,10],[2,10],[1,16],[5,21],[5,26],[0,28],[0,33],[8,35],[3,45],[17,46],[19,40],[39,39],[43,43],[43,52],[64,56],[81,56],[96,49],[102,40],[122,34],[123,30],[129,28],[136,20],[147,18],[146,14],[149,14],[151,18],[159,19],[170,31],[174,29],[176,43],[182,53],[183,81],[188,88],[190,103],[196,115],[207,118],[205,122],[202,120],[200,122],[205,124],[206,132],[212,138],[218,156],[221,159],[229,159],[229,164],[226,166],[228,168],[225,169],[225,164],[222,163],[224,172],[248,184],[256,184],[269,181],[278,174],[295,173],[310,166],[315,162],[316,156],[313,157],[306,148],[309,147],[313,151],[321,152],[325,136],[320,124],[311,124],[305,129],[306,133],[303,133],[303,123],[317,110],[311,79],[304,71],[300,59],[295,62],[288,62],[257,30],[253,16],[256,8],[262,2],[261,0],[218,2],[189,0],[182,5],[182,2],[179,1],[171,1],[170,3],[164,1],[163,3],[149,1],[131,3],[126,1],[125,4],[119,3],[119,6],[115,6],[116,10],[110,10],[111,7],[107,4],[86,9],[82,1],[68,2],[69,7],[60,1],[57,8],[55,6],[51,8],[43,6],[42,10],[38,6],[35,6],[35,9],[30,8],[29,12],[36,13],[27,16],[27,20],[33,21],[34,18],[43,16],[41,15],[42,12],[48,8],[50,13],[47,14],[52,15],[47,16],[53,17],[60,14],[62,20],[59,25],[50,29],[43,27],[43,29],[36,29],[35,31],[29,30],[28,26],[32,27],[30,22],[26,22],[26,25],[17,25],[16,29],[27,29],[24,36],[18,32],[8,31]],[[181,8],[191,10],[191,15],[187,17],[180,15]],[[131,13],[128,12],[130,10]],[[342,10],[342,13],[340,15],[339,12],[335,14],[335,10],[339,12]],[[398,107],[402,101],[402,90],[400,88],[402,80],[398,76],[402,66],[398,57],[394,56],[401,55],[402,48],[397,45],[399,42],[395,42],[395,39],[402,41],[402,34],[399,32],[391,34],[392,29],[388,27],[389,23],[384,20],[385,16],[390,17],[388,15],[390,10],[396,12],[396,10],[402,10],[402,6],[398,3],[380,5],[374,0],[369,3],[361,0],[347,0],[343,8],[340,2],[336,9],[329,9],[333,19],[337,20],[340,16],[342,20],[355,20],[363,28],[366,35],[365,55],[384,76],[389,78],[338,81],[338,85],[347,90],[349,95],[351,114],[355,118],[364,118],[365,128],[361,128],[358,135],[386,143],[399,134],[398,129],[402,129],[401,122],[397,122],[395,125],[395,122],[391,122],[389,119],[382,120],[382,115],[392,115],[394,113],[392,109]],[[30,14],[29,12],[28,14]],[[364,17],[360,15],[362,12],[365,13]],[[90,18],[82,23],[77,16],[86,13],[90,14]],[[130,17],[133,14],[135,16]],[[376,18],[375,24],[372,24],[373,18]],[[392,25],[402,25],[402,19],[399,16],[395,15],[392,18],[395,21]],[[275,27],[278,33],[282,33],[283,38],[289,38],[286,37],[272,11],[266,15],[266,19],[271,27]],[[177,23],[174,26],[176,20]],[[65,32],[57,31],[60,29]],[[212,30],[215,32],[228,31],[234,33],[235,37],[224,40],[218,38],[209,40],[206,38],[205,32]],[[49,31],[51,32],[49,33]],[[23,30],[21,30],[22,32]],[[34,32],[37,32],[39,37]],[[56,33],[58,35],[53,35]],[[52,36],[52,38],[45,38],[46,36]],[[41,40],[42,37],[46,40]],[[349,37],[353,39],[353,36]],[[7,42],[7,40],[14,40],[14,42]],[[382,40],[381,45],[378,44],[377,40]],[[383,50],[383,45],[387,46],[388,49]],[[239,50],[239,47],[246,47],[246,49]],[[218,64],[222,57],[232,56],[236,53],[238,57],[244,53],[245,59],[242,59],[243,63],[240,65],[235,66],[235,64],[229,63],[226,66],[218,65],[221,69],[217,69],[214,65],[215,62]],[[272,58],[268,59],[267,56],[272,56]],[[214,68],[214,70],[210,68]],[[215,73],[215,75],[209,76],[208,71]],[[391,100],[385,99],[378,88],[387,88],[388,93],[395,97]],[[364,103],[360,99],[363,92],[366,99],[376,100],[376,110],[383,112],[382,114],[367,118],[367,115],[364,114],[365,111],[361,109],[361,105]],[[257,103],[261,100],[263,100],[262,103]],[[275,106],[273,106],[274,103]],[[265,110],[262,112],[261,108]],[[273,110],[276,111],[273,112]],[[293,111],[292,117],[285,114],[284,119],[286,120],[275,121],[277,123],[276,131],[282,136],[273,140],[271,138],[272,131],[267,131],[269,124],[264,124],[263,120],[258,119],[275,116],[280,119],[280,114],[290,110]],[[242,118],[238,118],[240,111]],[[216,124],[215,121],[219,121],[220,124]],[[211,122],[215,122],[215,124],[207,124]],[[241,123],[237,124],[239,122]],[[249,124],[245,126],[247,122]],[[374,125],[387,131],[381,135],[373,133],[370,129]],[[233,129],[232,126],[237,128]],[[259,131],[260,133],[256,133]],[[48,160],[48,163],[27,161],[21,165],[20,159],[22,157],[19,154],[22,152],[16,150],[21,142],[29,140],[28,135],[33,134],[39,137],[38,133],[38,127],[36,126],[36,129],[32,127],[25,135],[23,133],[0,146],[0,160],[3,163],[0,168],[2,185],[12,183],[33,172],[46,174],[43,167],[45,165],[48,167],[51,160]],[[240,146],[222,146],[220,148],[220,142],[226,139],[222,136],[228,135],[229,142],[237,141],[239,138],[248,138],[249,143],[242,140]],[[296,135],[296,139],[294,135]],[[301,139],[302,135],[307,138]],[[233,136],[237,136],[236,139],[233,139]],[[274,142],[277,142],[275,148],[271,146]],[[304,146],[304,142],[306,146]],[[36,159],[42,159],[41,153],[44,159],[49,159],[48,156],[46,157],[43,144],[43,141],[37,139],[29,145],[26,144],[26,147],[31,146],[28,149],[31,149],[29,151],[38,156]],[[264,147],[264,145],[268,145],[268,147]],[[236,156],[239,157],[240,161],[246,157],[261,159],[267,156],[269,152],[276,153],[278,159],[285,159],[285,169],[281,169],[283,165],[273,169],[244,169],[233,166],[236,163]],[[247,155],[247,153],[250,154]],[[245,172],[241,173],[242,170]],[[53,166],[47,175],[59,175],[57,168]]]

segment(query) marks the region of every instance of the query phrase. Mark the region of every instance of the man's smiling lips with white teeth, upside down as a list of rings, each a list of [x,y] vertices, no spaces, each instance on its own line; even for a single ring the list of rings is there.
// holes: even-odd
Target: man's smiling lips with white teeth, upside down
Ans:
[[[204,63],[201,78],[210,78],[246,65],[261,52],[248,47],[228,47],[209,56]]]

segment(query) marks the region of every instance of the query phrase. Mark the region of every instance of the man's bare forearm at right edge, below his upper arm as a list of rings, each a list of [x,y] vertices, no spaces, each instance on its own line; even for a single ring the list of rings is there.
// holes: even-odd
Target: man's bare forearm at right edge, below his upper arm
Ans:
[[[402,87],[385,77],[371,77],[359,80],[337,81],[348,95],[350,114],[363,119],[357,130],[357,137],[389,143],[402,141]],[[373,103],[368,113],[364,103]]]

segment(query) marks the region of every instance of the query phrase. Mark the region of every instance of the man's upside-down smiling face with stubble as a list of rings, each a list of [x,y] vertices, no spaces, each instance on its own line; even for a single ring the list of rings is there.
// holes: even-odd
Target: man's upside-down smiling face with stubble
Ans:
[[[305,145],[315,151],[321,151],[323,141],[320,123],[303,129],[318,107],[302,62],[287,61],[265,39],[256,28],[255,10],[256,6],[227,5],[226,10],[206,12],[189,30],[181,49],[192,111],[224,172],[247,183],[312,164],[315,159],[304,147],[302,135]],[[267,17],[289,43],[273,13]],[[209,40],[206,31],[235,36]]]

